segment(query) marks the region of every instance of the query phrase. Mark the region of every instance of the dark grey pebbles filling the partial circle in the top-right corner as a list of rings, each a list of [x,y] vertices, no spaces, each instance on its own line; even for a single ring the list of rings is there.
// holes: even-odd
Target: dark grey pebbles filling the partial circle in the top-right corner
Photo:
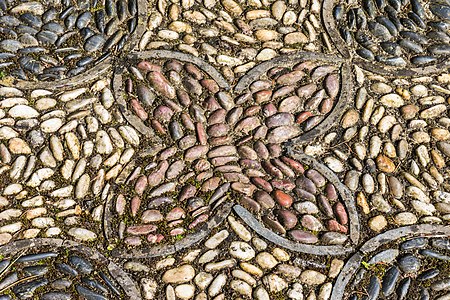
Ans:
[[[448,1],[330,2],[324,6],[330,11],[324,13],[332,19],[332,39],[354,51],[365,66],[423,67],[445,62],[450,55]]]

